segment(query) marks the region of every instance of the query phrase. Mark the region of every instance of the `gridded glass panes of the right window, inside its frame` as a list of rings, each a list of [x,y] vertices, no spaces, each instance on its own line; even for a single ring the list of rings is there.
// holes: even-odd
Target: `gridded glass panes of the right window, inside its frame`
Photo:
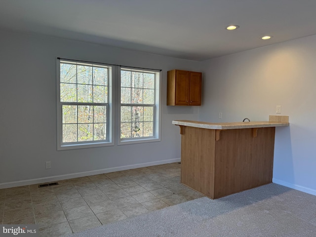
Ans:
[[[154,136],[156,75],[121,70],[120,138]]]

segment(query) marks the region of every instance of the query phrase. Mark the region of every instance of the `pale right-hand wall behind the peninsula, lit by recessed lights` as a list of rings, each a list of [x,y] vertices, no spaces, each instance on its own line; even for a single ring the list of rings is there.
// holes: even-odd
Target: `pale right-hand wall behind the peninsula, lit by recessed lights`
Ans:
[[[199,120],[263,121],[281,105],[290,126],[276,128],[273,182],[316,195],[316,35],[203,64]]]

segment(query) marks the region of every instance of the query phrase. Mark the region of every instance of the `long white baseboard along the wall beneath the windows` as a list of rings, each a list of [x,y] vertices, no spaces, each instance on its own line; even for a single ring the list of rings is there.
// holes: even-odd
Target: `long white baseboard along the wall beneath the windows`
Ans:
[[[84,176],[104,174],[104,173],[110,173],[110,172],[115,172],[115,171],[142,168],[142,167],[147,167],[147,166],[168,164],[168,163],[174,163],[174,162],[180,162],[180,161],[181,161],[181,158],[165,159],[165,160],[159,160],[159,161],[154,161],[154,162],[131,164],[131,165],[118,166],[118,167],[107,168],[107,169],[98,169],[98,170],[92,170],[92,171],[86,171],[86,172],[80,172],[80,173],[72,173],[72,174],[44,177],[44,178],[39,178],[39,179],[28,179],[28,180],[21,180],[21,181],[15,181],[15,182],[8,182],[8,183],[0,184],[0,189],[47,183],[47,182],[52,182],[52,181],[64,180],[64,179],[73,179],[73,178],[79,178],[79,177],[84,177]]]

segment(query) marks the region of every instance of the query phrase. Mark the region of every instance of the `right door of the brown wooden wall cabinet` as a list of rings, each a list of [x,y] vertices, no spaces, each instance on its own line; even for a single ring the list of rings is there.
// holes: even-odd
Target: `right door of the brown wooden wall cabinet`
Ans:
[[[189,105],[201,105],[202,73],[190,72]]]

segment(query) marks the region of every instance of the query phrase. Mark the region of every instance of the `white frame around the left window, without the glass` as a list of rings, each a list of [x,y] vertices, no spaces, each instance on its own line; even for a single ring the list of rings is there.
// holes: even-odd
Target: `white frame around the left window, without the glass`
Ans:
[[[114,146],[115,143],[115,113],[113,102],[115,100],[115,93],[113,89],[114,79],[115,79],[115,67],[112,65],[101,64],[101,63],[82,63],[80,60],[63,60],[57,58],[56,60],[56,74],[57,74],[57,150],[71,150],[71,149],[81,149],[81,148],[91,148],[91,147],[103,147],[103,146]],[[78,65],[87,66],[101,66],[109,68],[109,78],[108,78],[108,105],[107,105],[107,139],[102,141],[87,141],[87,142],[73,142],[73,143],[63,143],[63,132],[62,132],[62,102],[60,101],[60,63],[69,62]],[[92,103],[91,103],[92,104]]]

